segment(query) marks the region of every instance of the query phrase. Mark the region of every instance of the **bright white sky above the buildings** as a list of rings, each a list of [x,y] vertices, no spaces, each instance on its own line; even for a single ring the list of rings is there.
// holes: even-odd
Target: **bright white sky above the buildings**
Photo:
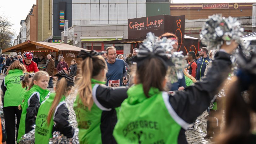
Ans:
[[[191,3],[191,0],[172,0],[173,3]],[[193,3],[203,3],[203,0],[193,0]],[[244,3],[245,0],[207,0],[207,3]],[[256,3],[256,0],[246,0],[247,3]],[[0,15],[4,14],[14,26],[16,36],[20,32],[20,20],[25,20],[36,0],[1,0]]]

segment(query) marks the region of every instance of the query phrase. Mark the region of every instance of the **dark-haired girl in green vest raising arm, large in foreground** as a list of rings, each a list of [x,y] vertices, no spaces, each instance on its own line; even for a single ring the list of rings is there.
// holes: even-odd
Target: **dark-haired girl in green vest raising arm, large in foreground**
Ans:
[[[155,40],[149,35],[147,40],[151,39]],[[174,54],[175,59],[168,59],[169,55],[160,43],[156,41],[150,45],[145,42],[140,46],[135,85],[127,91],[128,98],[121,104],[113,132],[119,144],[187,143],[184,131],[214,99],[230,71],[230,53],[237,47],[235,41],[230,45],[224,43],[222,49],[226,52],[215,55],[208,78],[168,95],[164,91],[167,66],[176,64],[179,56]]]

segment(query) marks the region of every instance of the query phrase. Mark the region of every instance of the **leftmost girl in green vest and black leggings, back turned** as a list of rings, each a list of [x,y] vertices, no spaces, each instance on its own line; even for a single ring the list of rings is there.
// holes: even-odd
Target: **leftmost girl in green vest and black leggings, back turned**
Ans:
[[[18,105],[22,102],[22,95],[25,92],[25,89],[23,89],[20,84],[20,76],[22,76],[24,72],[26,72],[26,68],[19,60],[15,60],[7,69],[7,75],[3,79],[3,113],[8,137],[7,143],[9,144],[15,144],[15,125],[17,129],[16,135],[19,132],[21,110],[18,109]],[[15,124],[15,116],[17,118],[17,124]]]

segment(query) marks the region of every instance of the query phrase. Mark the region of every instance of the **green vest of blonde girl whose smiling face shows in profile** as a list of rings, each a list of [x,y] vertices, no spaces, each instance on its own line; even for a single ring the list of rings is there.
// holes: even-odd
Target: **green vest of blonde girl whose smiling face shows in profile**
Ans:
[[[40,103],[44,101],[44,98],[49,94],[48,89],[42,89],[38,85],[33,85],[33,87],[26,91],[24,94],[24,104],[22,105],[22,113],[20,117],[20,126],[19,126],[19,132],[18,132],[18,141],[20,141],[21,137],[25,135],[25,128],[26,128],[26,114],[27,114],[27,108],[28,108],[28,101],[30,100],[30,97],[35,93],[40,95]],[[38,95],[38,96],[39,96]]]

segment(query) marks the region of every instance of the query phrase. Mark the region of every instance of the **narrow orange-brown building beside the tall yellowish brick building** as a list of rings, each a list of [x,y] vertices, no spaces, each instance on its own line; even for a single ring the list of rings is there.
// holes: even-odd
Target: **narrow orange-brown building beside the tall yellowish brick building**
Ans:
[[[33,4],[26,19],[26,40],[37,41],[37,6]]]

